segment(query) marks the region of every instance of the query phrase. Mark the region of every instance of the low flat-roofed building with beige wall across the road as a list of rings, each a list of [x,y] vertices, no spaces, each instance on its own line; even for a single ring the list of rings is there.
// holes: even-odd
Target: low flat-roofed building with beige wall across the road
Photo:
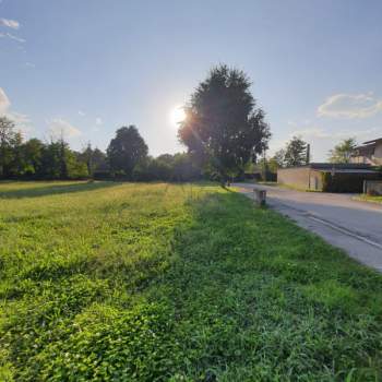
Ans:
[[[311,191],[362,192],[365,180],[380,178],[368,164],[311,163],[277,170],[278,183]]]

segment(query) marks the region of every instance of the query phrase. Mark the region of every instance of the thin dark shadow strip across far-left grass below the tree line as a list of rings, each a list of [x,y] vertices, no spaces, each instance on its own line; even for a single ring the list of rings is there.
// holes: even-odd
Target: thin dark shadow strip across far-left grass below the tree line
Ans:
[[[45,187],[36,187],[31,189],[7,190],[0,191],[0,199],[23,199],[23,198],[39,198],[63,193],[94,191],[104,188],[116,187],[120,182],[97,181],[83,183],[68,183],[68,184],[48,184]]]

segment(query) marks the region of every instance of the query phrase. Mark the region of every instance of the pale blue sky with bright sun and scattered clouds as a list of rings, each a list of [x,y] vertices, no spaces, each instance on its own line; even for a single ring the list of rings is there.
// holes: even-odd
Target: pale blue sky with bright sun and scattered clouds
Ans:
[[[208,70],[252,80],[270,155],[312,159],[382,136],[380,0],[0,0],[0,115],[25,138],[105,150],[135,124],[151,155],[184,151],[170,116]]]

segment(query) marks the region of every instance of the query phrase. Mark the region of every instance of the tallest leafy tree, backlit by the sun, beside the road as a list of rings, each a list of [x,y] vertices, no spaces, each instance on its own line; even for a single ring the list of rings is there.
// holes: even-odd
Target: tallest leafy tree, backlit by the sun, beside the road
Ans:
[[[242,71],[219,65],[199,84],[184,108],[180,141],[223,181],[242,172],[250,159],[267,148],[270,128],[250,86]]]

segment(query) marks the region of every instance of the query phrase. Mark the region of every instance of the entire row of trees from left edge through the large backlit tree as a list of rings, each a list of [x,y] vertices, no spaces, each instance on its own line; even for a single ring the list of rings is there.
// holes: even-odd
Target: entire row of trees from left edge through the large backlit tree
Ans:
[[[134,126],[117,130],[106,152],[88,144],[73,151],[63,138],[23,140],[15,124],[0,117],[1,179],[126,179],[226,182],[265,156],[271,131],[256,106],[247,74],[225,64],[213,68],[184,106],[178,138],[187,153],[154,158]]]

